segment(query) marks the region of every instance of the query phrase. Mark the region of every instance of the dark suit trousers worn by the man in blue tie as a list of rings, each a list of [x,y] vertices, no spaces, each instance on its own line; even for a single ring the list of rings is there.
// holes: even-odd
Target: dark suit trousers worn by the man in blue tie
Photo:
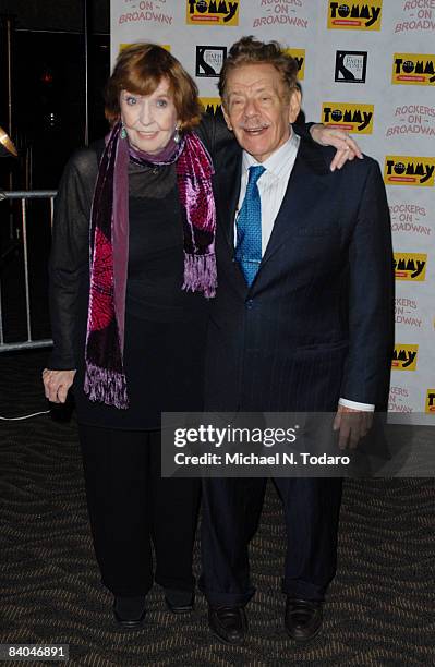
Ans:
[[[249,543],[258,527],[267,480],[203,480],[200,587],[212,605],[245,605],[251,584]],[[340,478],[276,477],[287,553],[282,592],[323,601],[337,566]]]

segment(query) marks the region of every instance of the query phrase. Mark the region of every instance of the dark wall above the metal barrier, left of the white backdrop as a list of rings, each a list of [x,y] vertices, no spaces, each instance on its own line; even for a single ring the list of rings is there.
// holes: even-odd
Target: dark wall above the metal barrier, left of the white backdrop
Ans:
[[[109,0],[87,0],[89,141],[102,136],[109,75]],[[0,0],[0,80],[7,81],[4,16],[13,16],[12,130],[19,160],[0,162],[0,189],[56,187],[70,154],[85,140],[83,0]],[[2,32],[3,31],[3,32]],[[8,129],[8,86],[0,125]],[[3,173],[7,172],[7,173]],[[8,187],[9,189],[9,187]]]

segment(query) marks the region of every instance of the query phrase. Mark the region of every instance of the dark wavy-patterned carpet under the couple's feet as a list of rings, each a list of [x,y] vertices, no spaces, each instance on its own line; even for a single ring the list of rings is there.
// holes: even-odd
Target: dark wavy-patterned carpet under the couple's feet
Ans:
[[[0,356],[1,415],[46,409],[45,357]],[[93,558],[74,421],[1,421],[0,485],[0,643],[69,644],[70,665],[94,667],[435,664],[433,480],[346,482],[324,631],[303,647],[282,630],[283,533],[270,485],[252,545],[258,591],[247,608],[249,639],[238,648],[210,638],[201,595],[195,613],[178,618],[157,586],[145,629],[125,633],[113,624]],[[195,554],[198,568],[197,546]]]

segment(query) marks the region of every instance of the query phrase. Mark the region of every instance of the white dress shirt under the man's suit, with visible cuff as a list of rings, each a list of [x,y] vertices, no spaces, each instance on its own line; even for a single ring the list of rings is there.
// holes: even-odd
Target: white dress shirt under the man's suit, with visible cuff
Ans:
[[[294,166],[294,160],[297,159],[299,144],[300,137],[294,134],[294,132],[291,132],[288,141],[264,162],[257,162],[252,155],[243,150],[240,196],[235,211],[235,220],[246,193],[249,168],[261,165],[266,170],[257,181],[262,199],[262,256],[266,252],[276,217],[287,191],[289,178]],[[234,233],[234,243],[235,242],[237,233]],[[373,412],[375,409],[371,403],[358,403],[357,401],[350,401],[343,398],[340,398],[339,403],[346,408],[364,410],[367,412]]]

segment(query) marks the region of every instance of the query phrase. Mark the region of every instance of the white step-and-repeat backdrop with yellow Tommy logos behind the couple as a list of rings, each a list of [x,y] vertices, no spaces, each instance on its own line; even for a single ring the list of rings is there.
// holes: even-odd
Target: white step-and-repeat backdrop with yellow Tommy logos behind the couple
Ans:
[[[396,272],[389,411],[435,424],[435,0],[111,0],[112,63],[123,45],[160,44],[212,112],[243,35],[285,45],[306,118],[348,130],[382,167]]]

